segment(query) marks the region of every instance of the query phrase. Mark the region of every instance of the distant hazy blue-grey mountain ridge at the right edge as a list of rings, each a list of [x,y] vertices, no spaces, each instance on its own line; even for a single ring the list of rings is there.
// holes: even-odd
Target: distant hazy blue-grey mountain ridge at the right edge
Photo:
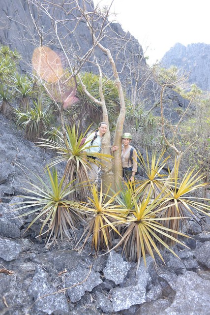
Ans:
[[[189,83],[203,91],[210,91],[210,45],[196,43],[184,46],[177,43],[162,58],[165,68],[176,66],[190,72]]]

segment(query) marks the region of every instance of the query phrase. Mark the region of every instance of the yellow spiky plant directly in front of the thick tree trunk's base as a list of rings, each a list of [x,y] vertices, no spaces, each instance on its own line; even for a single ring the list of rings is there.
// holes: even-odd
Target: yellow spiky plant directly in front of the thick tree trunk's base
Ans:
[[[88,223],[81,237],[83,239],[86,235],[81,249],[92,236],[92,249],[95,250],[95,256],[97,256],[99,250],[109,251],[112,248],[113,231],[120,235],[116,225],[124,222],[123,215],[127,212],[115,203],[120,191],[113,196],[109,196],[109,189],[104,194],[102,184],[100,191],[93,184],[91,187],[92,197],[88,197],[89,201],[82,205],[82,210],[85,211],[88,217]]]

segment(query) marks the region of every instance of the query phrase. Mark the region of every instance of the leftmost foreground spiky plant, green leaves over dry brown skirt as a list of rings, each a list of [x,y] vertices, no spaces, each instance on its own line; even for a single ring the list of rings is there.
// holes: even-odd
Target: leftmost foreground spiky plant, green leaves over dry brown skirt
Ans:
[[[27,200],[25,205],[16,210],[29,209],[20,217],[29,216],[33,213],[38,213],[30,222],[27,230],[38,220],[42,221],[40,235],[47,233],[46,244],[54,243],[57,238],[61,240],[66,237],[71,240],[75,229],[83,220],[82,211],[78,208],[78,203],[72,200],[67,200],[66,197],[74,192],[76,187],[73,183],[64,184],[64,177],[59,181],[58,172],[55,168],[50,172],[47,167],[47,181],[36,175],[37,182],[30,182],[31,189],[25,189],[29,196],[24,196]],[[20,204],[22,202],[16,203]],[[32,209],[31,209],[32,208]],[[47,230],[44,231],[44,228]]]

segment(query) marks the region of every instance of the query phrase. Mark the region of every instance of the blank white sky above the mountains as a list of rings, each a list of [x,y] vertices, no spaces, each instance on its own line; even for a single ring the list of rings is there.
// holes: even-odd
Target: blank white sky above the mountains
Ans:
[[[100,6],[112,2],[93,1]],[[138,39],[149,64],[178,42],[210,44],[209,0],[114,0],[111,11],[122,29]]]

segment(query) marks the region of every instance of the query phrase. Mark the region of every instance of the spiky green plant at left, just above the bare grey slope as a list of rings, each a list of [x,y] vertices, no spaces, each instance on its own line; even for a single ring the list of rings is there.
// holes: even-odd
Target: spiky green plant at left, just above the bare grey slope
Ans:
[[[41,100],[33,101],[33,108],[22,112],[15,110],[16,126],[25,131],[25,136],[32,142],[39,142],[43,133],[48,130],[52,120],[51,113],[43,109]]]

